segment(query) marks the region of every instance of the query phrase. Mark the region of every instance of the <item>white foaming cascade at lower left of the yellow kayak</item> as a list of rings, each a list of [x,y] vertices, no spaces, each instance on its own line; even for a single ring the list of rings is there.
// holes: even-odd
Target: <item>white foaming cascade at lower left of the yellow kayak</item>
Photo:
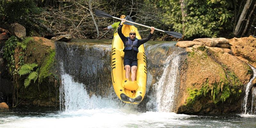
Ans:
[[[84,85],[74,82],[73,78],[68,74],[61,75],[62,86],[60,88],[60,106],[63,111],[74,111],[79,109],[93,108],[116,108],[118,102],[110,97],[92,95],[86,92]],[[63,109],[65,107],[65,109]]]

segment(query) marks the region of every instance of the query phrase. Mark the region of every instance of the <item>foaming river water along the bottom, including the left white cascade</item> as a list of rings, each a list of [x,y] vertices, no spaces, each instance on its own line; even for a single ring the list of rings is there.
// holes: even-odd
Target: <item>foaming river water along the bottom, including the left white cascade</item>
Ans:
[[[89,97],[83,84],[62,75],[65,108],[15,108],[0,112],[0,128],[255,128],[254,115],[185,115],[139,112],[137,105],[115,98]],[[115,96],[115,95],[114,95]]]

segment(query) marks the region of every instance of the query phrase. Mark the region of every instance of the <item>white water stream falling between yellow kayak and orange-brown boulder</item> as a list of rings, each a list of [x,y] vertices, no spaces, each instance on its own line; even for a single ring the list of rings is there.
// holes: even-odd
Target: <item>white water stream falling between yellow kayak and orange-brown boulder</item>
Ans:
[[[163,49],[166,46],[166,44],[161,46],[159,44],[156,45],[157,47],[162,46]],[[152,47],[154,46],[149,48],[151,49]],[[150,100],[147,103],[147,108],[152,111],[173,112],[176,107],[175,98],[179,93],[179,82],[176,81],[179,77],[180,60],[182,59],[182,55],[184,55],[184,51],[175,49],[175,47],[170,47],[170,49],[172,53],[164,59],[163,73],[159,76],[158,82],[153,85],[153,89],[148,96]]]

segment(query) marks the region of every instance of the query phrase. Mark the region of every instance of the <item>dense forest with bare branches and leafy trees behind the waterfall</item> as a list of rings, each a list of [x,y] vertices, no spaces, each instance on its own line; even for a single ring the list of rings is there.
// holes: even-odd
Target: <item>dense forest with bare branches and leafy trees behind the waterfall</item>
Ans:
[[[184,40],[232,38],[256,34],[255,7],[255,0],[0,0],[0,28],[16,22],[26,28],[27,36],[112,38],[113,30],[103,28],[118,20],[95,16],[95,10],[102,10],[180,32]],[[142,37],[148,35],[148,28],[138,29]],[[173,38],[157,31],[154,40]]]

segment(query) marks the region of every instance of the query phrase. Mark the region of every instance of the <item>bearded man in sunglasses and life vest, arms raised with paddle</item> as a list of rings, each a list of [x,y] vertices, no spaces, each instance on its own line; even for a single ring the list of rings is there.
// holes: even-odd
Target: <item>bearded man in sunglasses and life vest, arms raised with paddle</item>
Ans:
[[[154,27],[151,27],[151,31],[147,38],[138,40],[136,38],[136,33],[134,30],[131,30],[129,33],[129,37],[125,37],[122,33],[122,27],[126,19],[122,19],[120,26],[117,28],[117,33],[122,39],[124,43],[124,68],[125,68],[125,78],[129,80],[130,71],[131,71],[131,80],[135,81],[136,79],[136,71],[138,66],[137,54],[139,52],[138,48],[141,44],[146,43],[153,36]]]

